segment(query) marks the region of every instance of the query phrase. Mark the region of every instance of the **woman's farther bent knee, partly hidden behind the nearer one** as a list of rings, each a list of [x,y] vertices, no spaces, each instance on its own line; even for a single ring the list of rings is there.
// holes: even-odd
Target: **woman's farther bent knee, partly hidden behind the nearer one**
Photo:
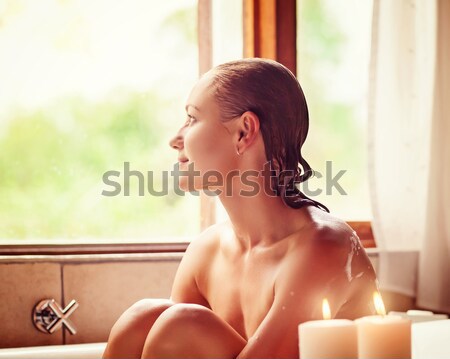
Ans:
[[[128,308],[111,329],[103,358],[140,358],[153,323],[173,302],[143,299]]]

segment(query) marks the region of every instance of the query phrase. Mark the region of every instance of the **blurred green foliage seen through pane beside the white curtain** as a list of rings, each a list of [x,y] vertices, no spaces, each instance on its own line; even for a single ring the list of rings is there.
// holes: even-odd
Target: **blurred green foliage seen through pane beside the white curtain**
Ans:
[[[333,162],[336,172],[347,170],[341,184],[350,197],[316,198],[336,213],[335,208],[346,207],[344,202],[349,204],[347,206],[368,204],[358,203],[366,179],[361,119],[358,118],[355,103],[337,98],[330,91],[339,67],[349,60],[344,53],[348,35],[330,11],[331,3],[332,0],[298,2],[297,67],[310,113],[310,134],[305,143],[304,156],[313,169],[321,173],[324,173],[326,161]],[[357,195],[351,197],[353,194]],[[347,212],[354,213],[355,210]],[[345,210],[337,214],[347,215]]]

